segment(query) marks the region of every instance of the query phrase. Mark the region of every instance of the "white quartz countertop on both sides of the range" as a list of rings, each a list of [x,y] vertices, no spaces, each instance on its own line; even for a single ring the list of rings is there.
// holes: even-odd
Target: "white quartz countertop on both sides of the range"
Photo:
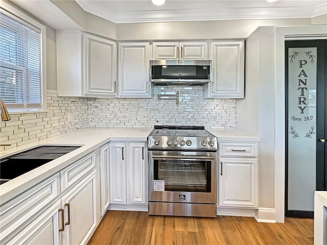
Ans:
[[[19,146],[1,152],[0,157],[4,158],[14,153],[29,150],[39,145],[81,145],[80,148],[39,166],[26,174],[14,178],[7,183],[0,185],[0,203],[3,204],[17,194],[31,188],[40,181],[58,173],[69,164],[81,159],[85,155],[95,151],[109,141],[146,141],[153,128],[131,128],[131,129],[108,129],[108,128],[87,128],[61,134],[59,136],[36,141],[34,143]],[[250,140],[258,141],[259,137],[253,136],[236,129],[212,129],[208,130],[218,137],[218,141],[225,140]],[[14,166],[13,166],[14,167]]]

